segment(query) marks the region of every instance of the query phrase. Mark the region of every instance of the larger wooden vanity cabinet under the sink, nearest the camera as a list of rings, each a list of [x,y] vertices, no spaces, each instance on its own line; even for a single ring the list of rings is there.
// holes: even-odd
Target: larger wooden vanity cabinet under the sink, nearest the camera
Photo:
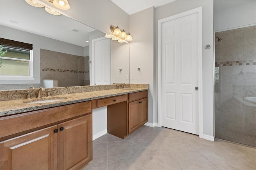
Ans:
[[[0,124],[6,127],[0,125],[1,131],[15,135],[15,131],[8,128],[17,123],[17,117],[22,121],[15,125],[20,126],[16,132],[20,133],[20,129],[24,128],[26,130],[33,128],[29,133],[0,142],[0,170],[81,169],[92,160],[90,102],[3,117],[0,118]],[[52,121],[56,124],[52,125],[54,124],[52,123],[49,127],[47,123]],[[46,128],[38,130],[35,127],[37,124]],[[4,133],[0,133],[0,137],[3,136]]]

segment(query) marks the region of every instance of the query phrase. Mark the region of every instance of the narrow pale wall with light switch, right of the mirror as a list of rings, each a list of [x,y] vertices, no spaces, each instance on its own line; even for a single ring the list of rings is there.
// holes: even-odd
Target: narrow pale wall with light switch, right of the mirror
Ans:
[[[153,123],[154,7],[130,15],[130,33],[130,83],[149,84],[148,122]]]

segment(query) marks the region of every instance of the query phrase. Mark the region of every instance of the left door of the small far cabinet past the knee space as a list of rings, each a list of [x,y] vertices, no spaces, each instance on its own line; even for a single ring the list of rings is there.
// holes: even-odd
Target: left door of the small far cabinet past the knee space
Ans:
[[[140,127],[139,101],[129,103],[129,134]]]

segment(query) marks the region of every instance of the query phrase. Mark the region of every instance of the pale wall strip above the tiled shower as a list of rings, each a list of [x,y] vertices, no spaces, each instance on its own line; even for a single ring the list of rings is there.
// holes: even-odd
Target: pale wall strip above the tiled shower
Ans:
[[[256,23],[256,1],[225,10],[214,11],[214,31]]]

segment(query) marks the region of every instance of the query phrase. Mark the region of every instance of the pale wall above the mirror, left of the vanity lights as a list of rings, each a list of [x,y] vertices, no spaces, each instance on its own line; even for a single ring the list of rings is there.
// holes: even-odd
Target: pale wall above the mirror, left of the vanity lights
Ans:
[[[111,33],[110,26],[119,26],[129,32],[129,15],[111,0],[70,0],[66,16],[104,33]]]

